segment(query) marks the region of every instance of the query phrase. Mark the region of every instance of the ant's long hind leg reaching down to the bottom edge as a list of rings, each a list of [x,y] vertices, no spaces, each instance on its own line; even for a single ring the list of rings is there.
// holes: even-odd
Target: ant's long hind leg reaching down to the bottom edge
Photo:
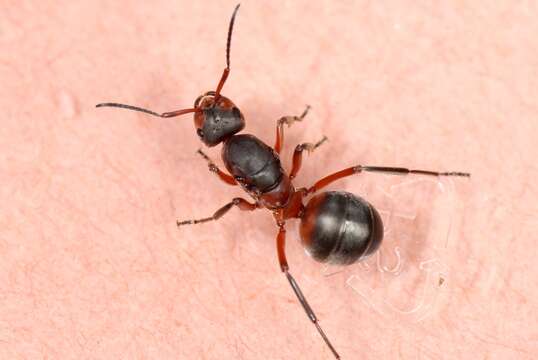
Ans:
[[[308,304],[308,301],[306,301],[306,297],[304,296],[303,292],[301,291],[301,288],[299,288],[299,284],[297,284],[297,281],[293,278],[293,276],[289,273],[289,266],[288,262],[286,260],[286,229],[284,228],[284,223],[279,223],[279,230],[277,235],[277,251],[278,251],[278,261],[280,263],[280,269],[282,272],[286,275],[286,278],[288,279],[288,282],[291,285],[291,288],[293,289],[293,292],[297,296],[297,300],[301,303],[303,306],[304,311],[306,312],[306,315],[312,321],[312,323],[316,326],[316,329],[318,329],[319,334],[325,341],[325,344],[331,349],[331,352],[333,353],[334,357],[336,359],[340,359],[340,355],[336,352],[334,349],[334,346],[331,344],[329,339],[327,338],[327,335],[323,332],[321,329],[321,326],[319,325],[318,318],[316,317],[316,314],[314,314],[314,310],[310,307]]]

